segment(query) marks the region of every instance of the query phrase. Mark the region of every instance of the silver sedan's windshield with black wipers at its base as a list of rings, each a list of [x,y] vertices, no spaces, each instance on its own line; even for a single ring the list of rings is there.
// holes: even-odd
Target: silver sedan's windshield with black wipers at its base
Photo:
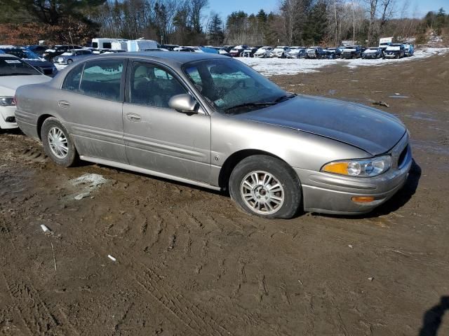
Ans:
[[[280,102],[283,97],[293,97],[236,59],[191,62],[183,69],[196,89],[219,112],[243,113],[262,109],[265,103]]]

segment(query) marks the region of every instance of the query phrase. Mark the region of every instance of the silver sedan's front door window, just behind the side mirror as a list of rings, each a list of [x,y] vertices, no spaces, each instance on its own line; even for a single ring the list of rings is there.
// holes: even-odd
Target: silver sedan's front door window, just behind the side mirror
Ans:
[[[130,73],[129,93],[131,104],[169,109],[170,98],[187,91],[167,71],[152,64],[135,62]]]

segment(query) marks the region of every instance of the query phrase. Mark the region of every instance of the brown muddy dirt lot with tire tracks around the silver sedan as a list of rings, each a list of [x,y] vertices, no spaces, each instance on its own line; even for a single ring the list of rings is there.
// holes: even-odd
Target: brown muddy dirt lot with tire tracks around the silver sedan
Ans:
[[[449,335],[448,69],[440,55],[272,78],[387,102],[409,127],[408,184],[362,218],[264,221],[210,190],[56,167],[1,134],[0,335]],[[86,173],[107,181],[74,200]]]

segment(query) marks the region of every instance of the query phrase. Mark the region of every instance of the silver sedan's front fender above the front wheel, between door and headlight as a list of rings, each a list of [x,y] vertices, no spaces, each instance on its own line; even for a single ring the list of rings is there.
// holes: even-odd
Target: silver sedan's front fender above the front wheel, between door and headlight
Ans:
[[[263,151],[281,158],[290,167],[316,172],[333,160],[370,157],[366,151],[354,146],[288,127],[241,120],[220,113],[213,113],[211,124],[211,184],[214,186],[218,186],[222,165],[239,151]]]

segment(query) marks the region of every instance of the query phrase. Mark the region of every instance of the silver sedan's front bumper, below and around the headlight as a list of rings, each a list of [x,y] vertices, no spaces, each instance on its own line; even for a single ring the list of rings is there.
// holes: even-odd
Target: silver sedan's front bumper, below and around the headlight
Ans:
[[[366,214],[387,202],[406,183],[412,166],[408,134],[390,151],[392,167],[372,178],[339,176],[295,168],[302,184],[304,211],[322,214]],[[402,156],[400,165],[398,160]],[[373,202],[357,203],[352,197],[374,197]]]

